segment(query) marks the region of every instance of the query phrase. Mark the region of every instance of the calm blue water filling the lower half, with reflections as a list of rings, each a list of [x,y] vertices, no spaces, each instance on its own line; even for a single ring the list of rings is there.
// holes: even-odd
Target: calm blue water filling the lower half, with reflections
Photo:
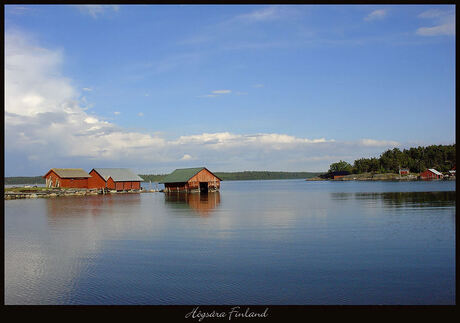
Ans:
[[[6,304],[454,304],[455,182],[5,201]]]

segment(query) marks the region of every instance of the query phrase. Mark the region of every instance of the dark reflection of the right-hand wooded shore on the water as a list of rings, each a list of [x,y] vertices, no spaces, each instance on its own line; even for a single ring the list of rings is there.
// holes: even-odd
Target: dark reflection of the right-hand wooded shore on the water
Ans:
[[[330,193],[332,200],[379,200],[385,207],[455,206],[455,191],[444,192],[379,192]]]

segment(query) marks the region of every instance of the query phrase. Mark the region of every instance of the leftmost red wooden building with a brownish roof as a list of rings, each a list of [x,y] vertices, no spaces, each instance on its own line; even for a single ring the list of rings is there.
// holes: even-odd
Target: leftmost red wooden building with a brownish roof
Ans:
[[[81,168],[51,168],[43,176],[46,179],[46,187],[62,188],[88,188],[87,172]]]

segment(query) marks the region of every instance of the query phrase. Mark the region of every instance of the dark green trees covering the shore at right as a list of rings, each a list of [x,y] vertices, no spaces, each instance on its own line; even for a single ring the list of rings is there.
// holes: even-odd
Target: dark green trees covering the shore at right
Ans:
[[[347,171],[361,173],[398,173],[400,168],[409,169],[411,173],[421,173],[428,168],[447,172],[456,165],[455,144],[413,147],[401,151],[393,148],[385,151],[379,158],[360,158],[353,165],[340,160],[329,167],[329,173]]]

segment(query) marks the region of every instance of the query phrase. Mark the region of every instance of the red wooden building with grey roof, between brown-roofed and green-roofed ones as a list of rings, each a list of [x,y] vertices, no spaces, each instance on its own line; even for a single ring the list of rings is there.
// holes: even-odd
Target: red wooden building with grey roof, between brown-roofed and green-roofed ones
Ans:
[[[142,178],[126,168],[94,168],[90,172],[89,188],[108,188],[110,190],[140,190]]]

